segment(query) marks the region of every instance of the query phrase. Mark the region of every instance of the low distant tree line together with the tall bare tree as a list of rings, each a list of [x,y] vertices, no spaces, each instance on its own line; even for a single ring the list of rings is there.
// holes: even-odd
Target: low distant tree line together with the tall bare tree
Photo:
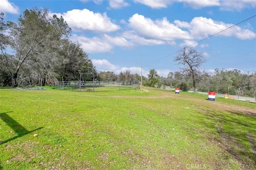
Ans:
[[[219,70],[215,69],[214,74],[209,74],[201,69],[206,59],[193,48],[184,47],[181,49],[174,61],[182,68],[176,72],[170,72],[167,77],[159,76],[155,69],[150,69],[146,76],[142,76],[142,85],[156,88],[179,87],[183,91],[217,91],[220,93],[238,91],[240,94],[248,94],[254,97],[256,94],[256,72],[241,72],[240,70]],[[141,80],[139,74],[131,74],[130,71],[120,72],[119,75],[114,72],[100,72],[99,80]]]

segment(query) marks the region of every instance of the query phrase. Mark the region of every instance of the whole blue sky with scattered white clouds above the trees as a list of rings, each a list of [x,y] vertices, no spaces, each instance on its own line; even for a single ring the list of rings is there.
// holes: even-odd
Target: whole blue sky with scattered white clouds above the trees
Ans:
[[[6,21],[34,7],[62,15],[98,71],[140,74],[142,64],[164,77],[179,70],[176,51],[256,15],[255,0],[0,0]],[[256,17],[193,47],[208,72],[256,71]]]

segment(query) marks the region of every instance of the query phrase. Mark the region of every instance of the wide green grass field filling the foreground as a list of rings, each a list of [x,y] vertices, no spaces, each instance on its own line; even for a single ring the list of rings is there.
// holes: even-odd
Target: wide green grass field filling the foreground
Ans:
[[[256,169],[256,104],[207,98],[0,89],[0,169]]]

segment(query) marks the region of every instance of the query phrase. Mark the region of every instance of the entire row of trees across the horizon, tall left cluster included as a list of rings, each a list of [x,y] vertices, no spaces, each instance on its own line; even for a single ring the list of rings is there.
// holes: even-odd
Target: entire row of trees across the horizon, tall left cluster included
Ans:
[[[0,13],[0,86],[54,85],[55,81],[80,80],[82,72],[94,73],[97,81],[141,81],[141,75],[130,70],[97,72],[81,45],[70,40],[71,33],[64,18],[50,16],[47,9],[25,10],[16,23],[4,21]],[[202,53],[193,48],[181,49],[174,62],[182,68],[167,77],[151,69],[142,76],[142,85],[180,87],[184,91],[204,87],[256,89],[256,72],[215,69],[209,74],[201,69],[206,62]],[[82,80],[91,81],[92,75],[83,75]]]

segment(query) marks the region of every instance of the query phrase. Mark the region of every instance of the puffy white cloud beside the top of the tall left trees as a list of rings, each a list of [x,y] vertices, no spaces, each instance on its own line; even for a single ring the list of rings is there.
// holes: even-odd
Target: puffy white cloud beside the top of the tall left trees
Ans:
[[[71,10],[63,14],[68,25],[75,30],[88,30],[93,32],[112,32],[120,29],[119,25],[112,23],[107,14],[94,13],[90,10]]]

